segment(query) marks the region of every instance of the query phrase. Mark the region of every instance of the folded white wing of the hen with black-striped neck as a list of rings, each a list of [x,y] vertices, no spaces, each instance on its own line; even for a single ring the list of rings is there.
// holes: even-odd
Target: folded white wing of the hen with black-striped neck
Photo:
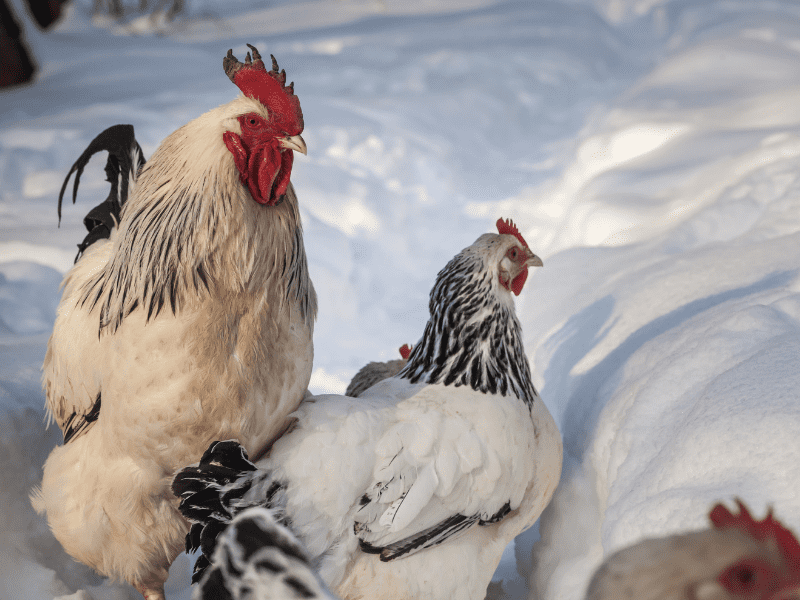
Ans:
[[[519,506],[533,473],[532,424],[522,403],[429,388],[398,404],[355,513],[361,548],[384,561],[502,520]]]

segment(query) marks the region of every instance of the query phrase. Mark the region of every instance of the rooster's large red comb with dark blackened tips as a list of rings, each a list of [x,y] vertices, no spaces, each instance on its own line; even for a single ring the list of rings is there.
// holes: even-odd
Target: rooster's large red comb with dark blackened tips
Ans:
[[[236,84],[248,98],[258,100],[272,113],[276,125],[288,135],[299,135],[303,131],[303,111],[300,109],[300,100],[294,95],[294,82],[286,85],[286,71],[278,71],[278,61],[272,58],[272,70],[267,71],[261,55],[255,46],[247,44],[253,51],[240,63],[233,55],[233,50],[228,50],[228,55],[222,59],[225,74]]]

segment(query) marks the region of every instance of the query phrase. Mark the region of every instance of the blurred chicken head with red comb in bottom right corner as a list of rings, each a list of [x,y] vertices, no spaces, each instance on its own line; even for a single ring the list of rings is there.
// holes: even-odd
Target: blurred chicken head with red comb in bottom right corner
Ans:
[[[800,544],[769,513],[756,521],[737,500],[712,527],[648,539],[613,554],[586,600],[800,600]]]

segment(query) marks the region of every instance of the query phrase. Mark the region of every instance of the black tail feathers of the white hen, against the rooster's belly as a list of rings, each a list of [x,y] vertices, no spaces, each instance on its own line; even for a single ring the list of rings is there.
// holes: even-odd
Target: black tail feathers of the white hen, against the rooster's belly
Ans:
[[[270,473],[250,462],[247,451],[235,440],[214,442],[198,465],[175,475],[172,492],[181,499],[178,509],[192,523],[186,534],[186,552],[202,552],[194,566],[193,583],[203,576],[217,538],[233,518],[254,506],[281,514],[283,496],[278,492],[283,489]]]

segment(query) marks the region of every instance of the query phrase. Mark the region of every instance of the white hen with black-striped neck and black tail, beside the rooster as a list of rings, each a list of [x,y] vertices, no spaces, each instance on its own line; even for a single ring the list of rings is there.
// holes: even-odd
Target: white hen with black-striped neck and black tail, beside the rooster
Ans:
[[[438,274],[405,368],[359,398],[310,397],[252,463],[218,442],[173,490],[199,577],[232,515],[285,520],[342,598],[482,600],[503,549],[561,473],[561,437],[531,381],[514,312],[542,261],[512,223]]]

